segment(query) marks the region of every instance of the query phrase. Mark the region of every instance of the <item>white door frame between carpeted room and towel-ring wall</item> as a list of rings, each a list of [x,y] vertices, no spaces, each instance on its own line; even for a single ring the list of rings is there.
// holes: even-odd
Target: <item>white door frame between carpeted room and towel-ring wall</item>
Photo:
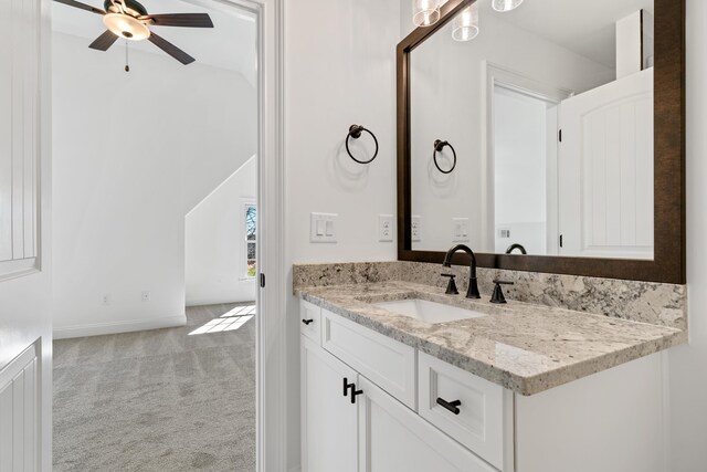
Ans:
[[[287,469],[286,268],[284,234],[283,1],[210,0],[251,11],[257,23],[256,471]]]

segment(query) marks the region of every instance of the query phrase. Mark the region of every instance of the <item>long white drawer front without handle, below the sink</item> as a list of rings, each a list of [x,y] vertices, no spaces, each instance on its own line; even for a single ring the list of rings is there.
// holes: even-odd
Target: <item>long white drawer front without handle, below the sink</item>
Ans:
[[[415,409],[415,349],[323,310],[321,346]]]

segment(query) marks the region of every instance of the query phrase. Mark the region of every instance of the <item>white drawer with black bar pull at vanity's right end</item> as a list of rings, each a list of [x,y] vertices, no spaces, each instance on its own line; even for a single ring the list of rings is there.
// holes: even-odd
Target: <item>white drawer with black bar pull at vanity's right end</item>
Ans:
[[[428,354],[418,356],[420,416],[495,468],[510,470],[513,394]],[[456,401],[455,413],[449,403]]]

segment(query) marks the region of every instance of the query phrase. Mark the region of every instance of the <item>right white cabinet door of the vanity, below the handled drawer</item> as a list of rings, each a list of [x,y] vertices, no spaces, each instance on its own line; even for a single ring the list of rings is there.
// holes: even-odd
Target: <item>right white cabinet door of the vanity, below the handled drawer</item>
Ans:
[[[496,472],[360,376],[360,472]]]

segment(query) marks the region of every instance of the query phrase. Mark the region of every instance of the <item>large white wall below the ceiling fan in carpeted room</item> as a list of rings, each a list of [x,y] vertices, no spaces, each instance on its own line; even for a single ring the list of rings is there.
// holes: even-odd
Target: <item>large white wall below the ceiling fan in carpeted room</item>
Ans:
[[[254,154],[255,92],[165,54],[125,73],[86,44],[53,35],[55,334],[182,324],[184,216]]]

